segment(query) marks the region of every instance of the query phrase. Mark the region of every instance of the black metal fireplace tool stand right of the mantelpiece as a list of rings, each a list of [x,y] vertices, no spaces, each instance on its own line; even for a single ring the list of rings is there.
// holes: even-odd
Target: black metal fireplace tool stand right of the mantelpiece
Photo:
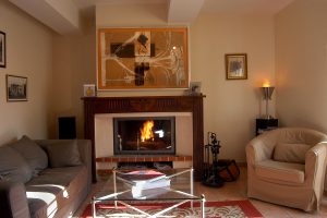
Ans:
[[[208,144],[205,145],[205,162],[204,162],[204,178],[203,184],[208,186],[220,187],[223,185],[223,180],[219,175],[218,170],[218,154],[219,141],[217,141],[216,133],[208,132]],[[210,162],[210,152],[213,161]]]

